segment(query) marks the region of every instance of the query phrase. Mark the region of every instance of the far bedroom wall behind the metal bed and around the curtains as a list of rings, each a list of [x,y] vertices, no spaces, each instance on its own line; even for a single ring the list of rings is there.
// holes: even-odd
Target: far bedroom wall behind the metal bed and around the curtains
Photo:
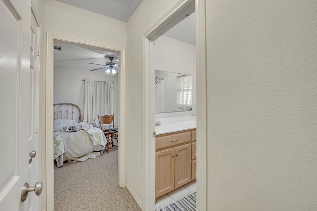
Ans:
[[[112,77],[114,81],[113,110],[114,123],[118,124],[118,75]],[[103,71],[87,71],[80,69],[54,68],[54,103],[74,103],[84,113],[84,82],[89,79],[94,81],[108,81],[111,79]],[[66,91],[69,90],[69,91]],[[97,117],[96,117],[97,118]],[[98,120],[97,120],[98,124]]]

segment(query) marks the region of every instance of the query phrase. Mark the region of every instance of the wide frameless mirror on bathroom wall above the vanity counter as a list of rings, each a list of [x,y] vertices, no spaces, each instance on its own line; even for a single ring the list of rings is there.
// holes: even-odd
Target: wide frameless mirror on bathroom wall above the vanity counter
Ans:
[[[192,76],[155,71],[155,112],[192,110]]]

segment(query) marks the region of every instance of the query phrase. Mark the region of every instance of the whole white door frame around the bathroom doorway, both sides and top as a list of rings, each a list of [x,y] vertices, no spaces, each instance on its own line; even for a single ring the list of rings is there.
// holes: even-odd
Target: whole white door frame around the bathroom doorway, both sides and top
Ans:
[[[184,19],[196,15],[197,78],[197,210],[207,210],[207,101],[205,0],[181,0],[143,35],[143,211],[155,208],[155,39]]]

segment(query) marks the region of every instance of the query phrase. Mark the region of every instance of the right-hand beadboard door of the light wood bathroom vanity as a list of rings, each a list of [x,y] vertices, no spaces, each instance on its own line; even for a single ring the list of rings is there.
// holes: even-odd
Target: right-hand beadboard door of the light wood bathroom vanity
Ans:
[[[191,181],[191,144],[175,147],[175,189]]]

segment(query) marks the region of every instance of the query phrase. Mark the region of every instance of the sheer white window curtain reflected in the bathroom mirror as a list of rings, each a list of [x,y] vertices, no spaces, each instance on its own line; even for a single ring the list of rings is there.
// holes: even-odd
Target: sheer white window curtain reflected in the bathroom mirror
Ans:
[[[192,109],[192,76],[176,77],[177,110],[188,111]]]

